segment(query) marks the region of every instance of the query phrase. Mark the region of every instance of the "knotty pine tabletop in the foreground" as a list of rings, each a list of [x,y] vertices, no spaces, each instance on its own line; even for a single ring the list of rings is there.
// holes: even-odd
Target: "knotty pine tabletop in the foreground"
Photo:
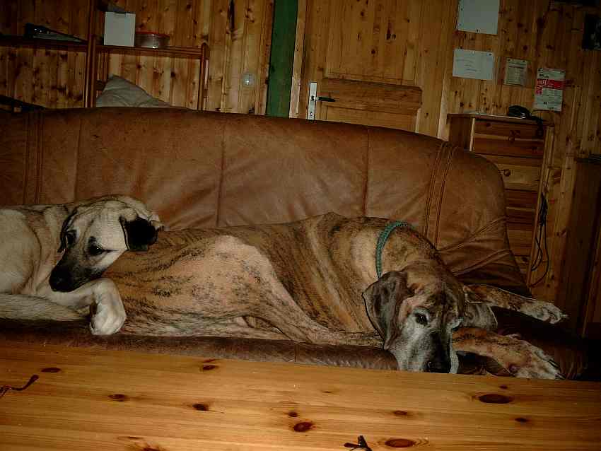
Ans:
[[[600,450],[601,384],[0,343],[0,450]]]

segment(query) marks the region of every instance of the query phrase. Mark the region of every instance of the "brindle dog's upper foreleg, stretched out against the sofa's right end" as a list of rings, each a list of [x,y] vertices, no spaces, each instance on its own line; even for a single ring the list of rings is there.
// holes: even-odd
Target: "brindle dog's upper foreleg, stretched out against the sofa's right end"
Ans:
[[[475,298],[477,302],[484,301],[497,307],[515,310],[551,324],[560,322],[568,316],[552,303],[526,298],[489,285],[469,285],[466,298],[468,302],[472,302]]]

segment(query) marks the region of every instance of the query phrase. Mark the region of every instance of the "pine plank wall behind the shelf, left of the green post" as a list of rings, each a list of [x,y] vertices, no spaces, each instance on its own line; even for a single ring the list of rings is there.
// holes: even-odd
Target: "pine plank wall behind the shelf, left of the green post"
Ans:
[[[209,42],[207,110],[264,113],[274,0],[117,0],[136,13],[136,29],[170,35],[170,45]],[[100,15],[102,16],[102,15]],[[233,19],[233,21],[232,21]],[[2,0],[0,33],[22,35],[27,22],[86,38],[87,0]],[[232,28],[233,24],[233,28]],[[98,33],[103,34],[99,21]],[[0,93],[47,107],[81,107],[86,57],[80,52],[0,47]],[[123,76],[172,105],[197,107],[198,61],[111,55]],[[242,85],[255,74],[252,88]]]

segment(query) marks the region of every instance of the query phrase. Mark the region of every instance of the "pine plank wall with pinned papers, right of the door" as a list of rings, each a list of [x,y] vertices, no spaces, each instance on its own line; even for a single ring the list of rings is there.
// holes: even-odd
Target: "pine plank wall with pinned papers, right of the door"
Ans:
[[[542,280],[532,288],[532,293],[538,298],[556,300],[566,274],[566,238],[578,234],[578,230],[568,230],[576,180],[574,158],[601,154],[601,52],[581,47],[585,14],[601,14],[601,8],[549,0],[501,0],[498,34],[493,36],[455,30],[457,0],[428,3],[428,7],[424,4],[424,15],[431,16],[425,22],[429,24],[431,36],[429,43],[421,44],[419,66],[420,86],[424,90],[419,127],[423,133],[446,139],[448,113],[477,111],[504,115],[514,104],[532,110],[537,68],[566,71],[562,111],[539,112],[541,117],[554,124],[555,140],[546,190],[550,269],[545,274],[542,264],[535,271],[532,280]],[[494,52],[496,80],[453,77],[455,48]],[[437,54],[436,59],[431,55],[428,57],[432,52]],[[527,86],[503,85],[507,57],[529,61]],[[431,83],[436,95],[428,96]]]

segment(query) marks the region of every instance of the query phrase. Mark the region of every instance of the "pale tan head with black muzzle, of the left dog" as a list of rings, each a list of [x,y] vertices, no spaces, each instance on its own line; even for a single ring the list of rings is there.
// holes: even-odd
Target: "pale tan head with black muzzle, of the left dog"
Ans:
[[[78,204],[62,225],[59,252],[64,254],[52,269],[50,287],[73,291],[98,279],[126,250],[148,250],[161,228],[156,213],[131,197]]]

